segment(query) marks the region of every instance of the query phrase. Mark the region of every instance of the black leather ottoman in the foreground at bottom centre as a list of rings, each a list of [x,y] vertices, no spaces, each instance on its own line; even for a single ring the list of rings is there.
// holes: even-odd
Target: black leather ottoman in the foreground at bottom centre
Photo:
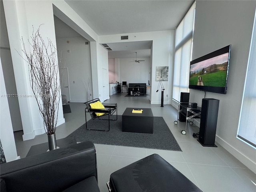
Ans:
[[[112,173],[107,186],[110,192],[202,192],[158,154]]]

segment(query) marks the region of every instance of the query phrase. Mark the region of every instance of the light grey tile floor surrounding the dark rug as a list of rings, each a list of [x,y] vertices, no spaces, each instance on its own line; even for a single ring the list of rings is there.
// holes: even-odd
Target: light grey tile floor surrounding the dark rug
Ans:
[[[164,107],[150,104],[149,96],[124,96],[124,93],[110,96],[104,103],[117,103],[118,115],[122,115],[126,107],[151,108],[154,116],[164,118],[182,152],[95,144],[101,192],[108,192],[106,182],[112,172],[154,153],[162,156],[204,192],[256,192],[256,174],[218,143],[217,148],[203,147],[192,136],[194,132],[199,131],[198,127],[189,126],[186,135],[181,134],[185,123],[179,122],[178,125],[174,125],[174,121],[177,120],[175,108],[165,105],[166,102]],[[57,139],[65,138],[85,123],[85,104],[70,103],[70,108],[72,113],[64,114],[66,123],[58,126],[56,130]],[[22,134],[22,131],[14,133],[17,152],[21,158],[26,156],[30,146],[47,142],[46,134],[27,141],[22,141]]]

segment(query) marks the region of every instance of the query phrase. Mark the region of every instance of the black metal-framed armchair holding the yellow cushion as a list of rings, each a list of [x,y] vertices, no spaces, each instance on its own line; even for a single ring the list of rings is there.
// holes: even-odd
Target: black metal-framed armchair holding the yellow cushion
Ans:
[[[96,130],[96,131],[109,131],[110,130],[110,120],[117,120],[117,104],[103,104],[103,106],[105,107],[105,109],[92,109],[90,104],[100,101],[99,98],[90,100],[88,102],[85,102],[86,104],[86,108],[85,108],[85,122],[86,122],[86,129],[87,130]],[[108,120],[108,130],[98,130],[98,129],[90,129],[87,128],[87,118],[86,118],[86,113],[90,113],[90,116],[92,118],[92,120],[98,118],[99,120]],[[104,113],[104,115],[102,116],[106,116],[108,115],[108,119],[102,119],[100,117],[102,116],[97,116],[95,113]],[[110,116],[112,116],[114,113],[116,113],[116,118],[115,119],[110,119]]]

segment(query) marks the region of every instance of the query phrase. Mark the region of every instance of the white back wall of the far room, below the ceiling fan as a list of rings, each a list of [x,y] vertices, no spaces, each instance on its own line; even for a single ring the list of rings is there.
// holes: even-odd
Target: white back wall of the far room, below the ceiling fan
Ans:
[[[137,58],[145,60],[140,63],[130,62],[132,58],[119,59],[119,83],[123,81],[129,83],[146,83],[150,80],[150,58]]]

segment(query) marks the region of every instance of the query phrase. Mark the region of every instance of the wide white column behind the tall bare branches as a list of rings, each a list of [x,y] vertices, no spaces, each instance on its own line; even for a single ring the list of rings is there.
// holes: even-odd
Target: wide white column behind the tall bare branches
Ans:
[[[3,1],[8,30],[10,50],[16,88],[19,96],[20,114],[23,126],[23,140],[34,138],[38,134],[44,134],[44,125],[39,113],[38,105],[30,87],[28,63],[22,58],[21,37],[26,43],[27,51],[30,50],[28,39],[40,24],[40,34],[49,38],[56,47],[55,29],[52,2],[50,1]],[[20,56],[21,55],[21,56]],[[62,102],[59,104],[58,120],[63,123]],[[60,124],[60,123],[59,123]]]

